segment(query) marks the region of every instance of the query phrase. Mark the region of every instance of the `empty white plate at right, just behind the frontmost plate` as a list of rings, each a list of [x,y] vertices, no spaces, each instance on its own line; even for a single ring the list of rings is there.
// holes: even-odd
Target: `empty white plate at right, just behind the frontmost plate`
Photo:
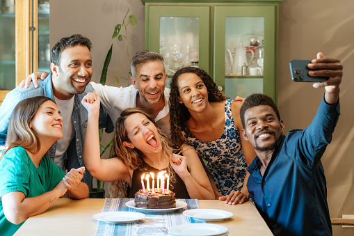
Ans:
[[[183,214],[200,221],[221,221],[234,216],[231,212],[216,209],[191,209],[184,211]]]

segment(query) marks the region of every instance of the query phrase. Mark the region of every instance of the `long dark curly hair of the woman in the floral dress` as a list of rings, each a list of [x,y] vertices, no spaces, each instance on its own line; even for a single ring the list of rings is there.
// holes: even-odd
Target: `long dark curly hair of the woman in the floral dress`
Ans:
[[[175,148],[179,148],[183,143],[181,141],[181,132],[186,129],[186,122],[191,118],[186,106],[179,103],[179,91],[178,91],[178,78],[181,74],[194,73],[197,74],[204,82],[208,91],[209,102],[220,102],[227,99],[225,94],[218,90],[215,82],[207,72],[200,68],[185,67],[177,70],[172,77],[170,84],[170,125],[171,125],[171,139]]]

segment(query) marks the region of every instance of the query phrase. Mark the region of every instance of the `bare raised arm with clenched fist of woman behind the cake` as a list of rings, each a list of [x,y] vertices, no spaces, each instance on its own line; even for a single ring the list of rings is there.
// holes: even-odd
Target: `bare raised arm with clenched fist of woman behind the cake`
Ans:
[[[96,92],[88,93],[81,102],[88,110],[88,123],[83,145],[83,162],[90,174],[102,181],[127,180],[127,166],[118,159],[101,159],[99,150],[99,96]]]

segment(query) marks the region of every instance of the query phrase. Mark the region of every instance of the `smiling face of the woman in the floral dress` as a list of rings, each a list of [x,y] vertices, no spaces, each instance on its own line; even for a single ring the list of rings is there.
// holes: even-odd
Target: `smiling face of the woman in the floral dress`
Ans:
[[[209,103],[207,86],[197,74],[181,74],[177,84],[179,103],[184,103],[189,111],[199,111]]]

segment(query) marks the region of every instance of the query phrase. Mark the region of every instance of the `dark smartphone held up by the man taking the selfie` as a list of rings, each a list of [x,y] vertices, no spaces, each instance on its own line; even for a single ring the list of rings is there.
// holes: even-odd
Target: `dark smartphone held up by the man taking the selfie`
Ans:
[[[323,82],[328,80],[328,77],[312,77],[309,76],[309,68],[307,64],[311,61],[307,60],[291,60],[290,61],[290,73],[291,79],[296,82]]]

